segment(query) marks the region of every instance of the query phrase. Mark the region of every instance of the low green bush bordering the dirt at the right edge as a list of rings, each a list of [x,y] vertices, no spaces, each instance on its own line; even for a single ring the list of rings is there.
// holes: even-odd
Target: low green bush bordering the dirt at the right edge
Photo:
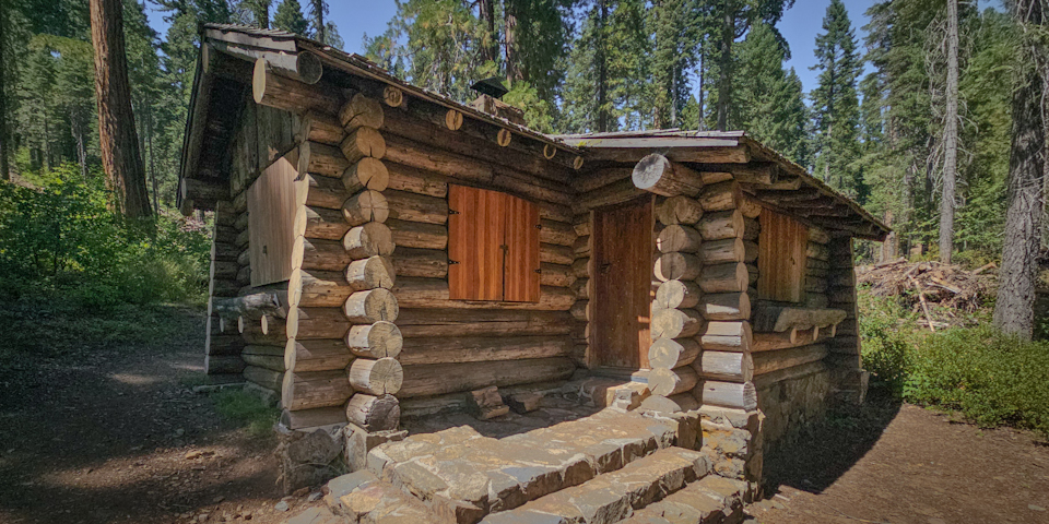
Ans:
[[[936,333],[916,352],[904,395],[958,409],[980,426],[1010,425],[1049,436],[1049,343],[991,327]]]

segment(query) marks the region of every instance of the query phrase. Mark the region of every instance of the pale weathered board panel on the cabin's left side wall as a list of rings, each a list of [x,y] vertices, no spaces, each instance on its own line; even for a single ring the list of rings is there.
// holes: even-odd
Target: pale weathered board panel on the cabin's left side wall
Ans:
[[[297,175],[295,166],[281,157],[248,188],[252,286],[286,281],[292,274]]]

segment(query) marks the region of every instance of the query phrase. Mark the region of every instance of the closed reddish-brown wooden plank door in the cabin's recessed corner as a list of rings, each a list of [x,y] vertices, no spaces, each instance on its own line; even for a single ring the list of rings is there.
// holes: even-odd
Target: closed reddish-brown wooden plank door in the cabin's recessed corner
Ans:
[[[648,367],[652,198],[593,212],[594,367]]]

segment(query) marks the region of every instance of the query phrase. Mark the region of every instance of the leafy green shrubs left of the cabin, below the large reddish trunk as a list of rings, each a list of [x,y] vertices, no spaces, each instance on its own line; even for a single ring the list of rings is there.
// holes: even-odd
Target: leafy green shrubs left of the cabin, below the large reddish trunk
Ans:
[[[63,165],[33,176],[38,188],[0,184],[0,296],[102,309],[202,300],[207,236],[163,214],[121,218],[106,207],[102,179]]]

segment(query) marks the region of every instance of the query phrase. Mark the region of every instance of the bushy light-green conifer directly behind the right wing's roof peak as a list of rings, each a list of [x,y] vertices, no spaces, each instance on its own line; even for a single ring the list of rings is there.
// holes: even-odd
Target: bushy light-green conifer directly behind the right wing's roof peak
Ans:
[[[738,46],[739,82],[730,111],[733,128],[804,164],[808,112],[801,80],[783,71],[783,50],[771,29],[756,24]]]

